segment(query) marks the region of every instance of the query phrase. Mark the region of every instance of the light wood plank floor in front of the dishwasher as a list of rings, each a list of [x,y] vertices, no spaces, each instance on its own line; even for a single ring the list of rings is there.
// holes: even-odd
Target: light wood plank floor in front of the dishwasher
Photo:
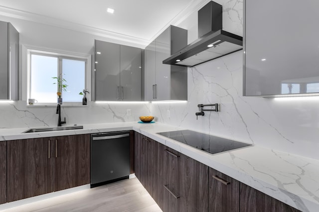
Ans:
[[[11,208],[5,212],[161,212],[137,178]]]

